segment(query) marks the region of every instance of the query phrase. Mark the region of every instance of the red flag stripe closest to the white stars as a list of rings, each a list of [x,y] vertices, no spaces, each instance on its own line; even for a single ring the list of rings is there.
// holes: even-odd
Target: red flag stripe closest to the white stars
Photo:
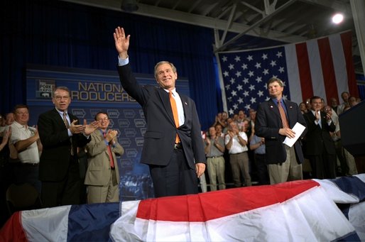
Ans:
[[[300,88],[302,89],[302,100],[313,97],[312,77],[310,76],[310,64],[307,52],[307,44],[300,43],[295,45],[297,53]]]

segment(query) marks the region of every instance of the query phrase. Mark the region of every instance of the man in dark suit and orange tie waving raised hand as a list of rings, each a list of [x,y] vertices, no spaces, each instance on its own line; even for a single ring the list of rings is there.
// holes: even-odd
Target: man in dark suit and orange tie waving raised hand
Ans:
[[[146,117],[141,163],[150,168],[155,197],[196,194],[206,161],[195,103],[176,92],[178,73],[170,62],[155,66],[160,88],[139,85],[129,65],[129,38],[123,28],[115,29],[121,85],[141,104]]]

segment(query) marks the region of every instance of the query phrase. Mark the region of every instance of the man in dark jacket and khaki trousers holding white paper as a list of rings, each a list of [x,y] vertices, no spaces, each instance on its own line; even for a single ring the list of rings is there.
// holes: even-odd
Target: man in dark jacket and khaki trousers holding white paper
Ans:
[[[270,183],[302,180],[304,156],[300,139],[305,134],[303,131],[307,124],[298,104],[283,100],[283,81],[273,77],[268,80],[266,86],[271,99],[258,104],[255,132],[257,136],[265,138]],[[300,123],[304,128],[293,131],[296,123]],[[288,142],[285,143],[295,139],[297,141],[290,146],[283,143],[285,138],[288,138]]]

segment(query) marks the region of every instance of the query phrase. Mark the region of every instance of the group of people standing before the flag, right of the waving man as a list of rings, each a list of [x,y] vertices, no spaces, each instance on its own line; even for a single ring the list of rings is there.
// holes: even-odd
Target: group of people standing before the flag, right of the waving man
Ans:
[[[242,187],[303,178],[332,179],[356,175],[358,167],[359,172],[364,172],[360,165],[363,161],[359,160],[356,166],[356,158],[342,146],[339,130],[339,114],[359,104],[361,99],[350,96],[349,92],[342,92],[341,104],[335,98],[326,104],[325,99],[317,96],[299,105],[282,101],[289,127],[293,128],[296,122],[306,127],[295,143],[298,147],[293,145],[290,148],[283,145],[289,135],[280,134],[285,132],[280,112],[271,110],[273,106],[278,106],[276,100],[282,99],[283,84],[280,79],[271,81],[268,82],[271,101],[259,104],[257,111],[249,109],[249,116],[244,110],[231,116],[223,111],[215,116],[214,123],[207,131],[202,131],[209,190],[217,190],[217,185],[219,189],[225,189],[230,182],[233,182],[229,184],[231,187]],[[274,83],[275,87],[271,87],[270,83]],[[287,155],[289,162],[285,162]],[[225,181],[224,175],[229,176],[229,182]]]

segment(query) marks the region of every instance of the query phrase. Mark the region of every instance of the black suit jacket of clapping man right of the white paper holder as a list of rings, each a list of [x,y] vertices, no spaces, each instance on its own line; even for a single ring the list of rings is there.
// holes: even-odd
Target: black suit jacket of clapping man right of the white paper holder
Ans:
[[[334,132],[336,126],[333,122],[328,125],[325,112],[321,111],[320,116],[322,128],[319,124],[315,124],[315,115],[312,114],[312,111],[308,111],[304,114],[304,119],[307,122],[308,127],[307,134],[305,135],[305,155],[322,155],[322,152],[324,151],[323,148],[325,148],[330,155],[336,154],[334,142],[329,135],[329,132]]]

